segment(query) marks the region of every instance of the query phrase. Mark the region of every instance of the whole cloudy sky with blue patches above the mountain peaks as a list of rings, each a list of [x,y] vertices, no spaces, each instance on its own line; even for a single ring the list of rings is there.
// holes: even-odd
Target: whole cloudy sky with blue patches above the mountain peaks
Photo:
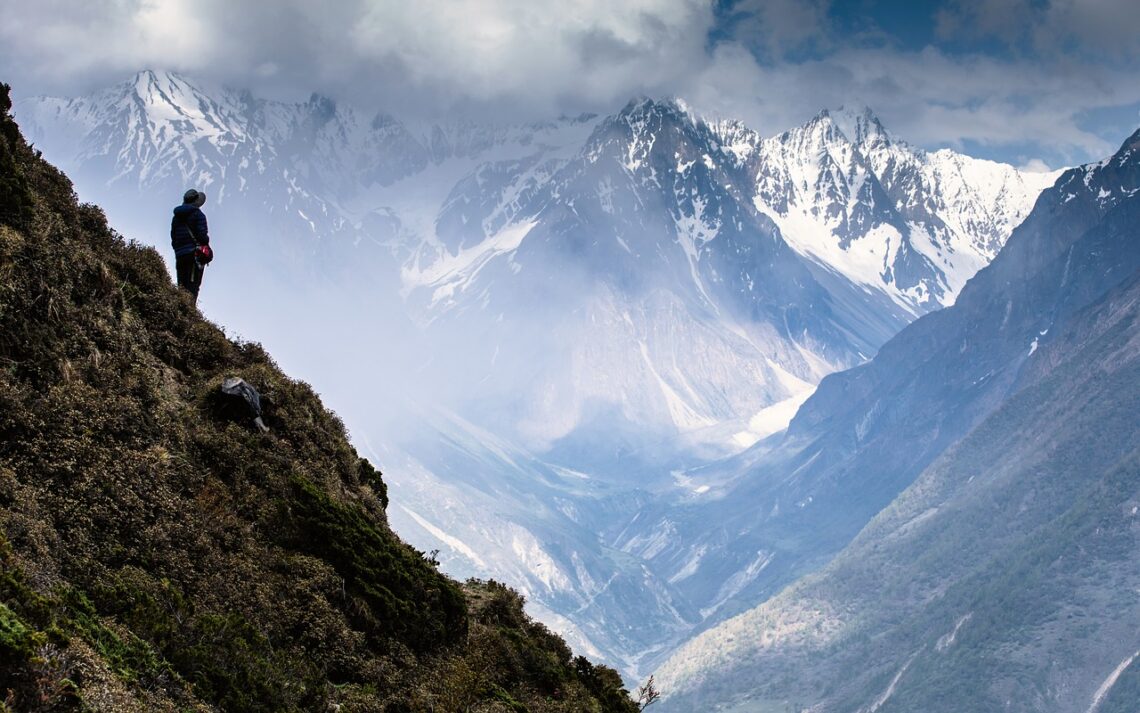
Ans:
[[[765,135],[866,105],[911,143],[1052,168],[1140,127],[1137,0],[0,0],[0,16],[17,96],[141,68],[427,118],[676,95]]]

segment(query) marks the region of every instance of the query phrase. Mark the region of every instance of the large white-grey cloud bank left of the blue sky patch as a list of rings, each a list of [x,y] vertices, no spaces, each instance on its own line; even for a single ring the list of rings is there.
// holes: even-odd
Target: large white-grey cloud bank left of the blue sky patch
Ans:
[[[0,8],[0,59],[51,88],[161,67],[424,111],[494,102],[551,111],[662,90],[706,60],[714,22],[706,0],[72,5]]]

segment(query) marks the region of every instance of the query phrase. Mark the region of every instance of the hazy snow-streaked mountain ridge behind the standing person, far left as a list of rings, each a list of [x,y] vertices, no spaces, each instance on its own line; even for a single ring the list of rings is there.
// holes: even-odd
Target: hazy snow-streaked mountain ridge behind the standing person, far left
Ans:
[[[303,103],[263,100],[150,71],[90,96],[18,104],[33,140],[140,235],[161,225],[152,213],[169,212],[166,204],[195,185],[219,211],[219,225],[237,226],[233,246],[271,242],[272,252],[302,261],[328,260],[339,252],[329,241],[390,241],[401,226],[418,235],[439,211],[435,194],[446,195],[487,154],[530,155],[576,125],[414,132],[388,114],[317,95]],[[401,184],[409,176],[413,187]],[[383,200],[373,195],[377,188],[386,188]],[[160,208],[140,210],[152,202]]]

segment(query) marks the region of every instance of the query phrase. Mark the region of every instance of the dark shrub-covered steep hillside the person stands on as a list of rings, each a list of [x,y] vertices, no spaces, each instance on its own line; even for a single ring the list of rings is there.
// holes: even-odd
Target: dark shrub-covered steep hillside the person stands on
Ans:
[[[637,708],[518,594],[400,542],[336,416],[78,204],[9,110],[0,86],[0,708]]]

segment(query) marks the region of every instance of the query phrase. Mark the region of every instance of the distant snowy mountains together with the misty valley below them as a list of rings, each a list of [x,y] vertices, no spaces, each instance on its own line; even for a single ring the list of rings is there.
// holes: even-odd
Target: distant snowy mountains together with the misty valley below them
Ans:
[[[383,350],[415,341],[399,373],[340,345],[365,366],[337,408],[385,444],[393,524],[627,671],[765,595],[765,548],[676,541],[717,518],[691,509],[715,477],[685,469],[782,430],[826,374],[952,303],[1052,180],[907,146],[870,112],[771,138],[651,99],[423,127],[144,72],[16,115],[164,253],[170,208],[204,188],[221,256],[204,299],[241,333],[282,325],[296,342],[275,354],[310,353],[303,335],[344,314],[383,319]],[[397,439],[372,381],[449,415],[408,412],[422,431]]]

